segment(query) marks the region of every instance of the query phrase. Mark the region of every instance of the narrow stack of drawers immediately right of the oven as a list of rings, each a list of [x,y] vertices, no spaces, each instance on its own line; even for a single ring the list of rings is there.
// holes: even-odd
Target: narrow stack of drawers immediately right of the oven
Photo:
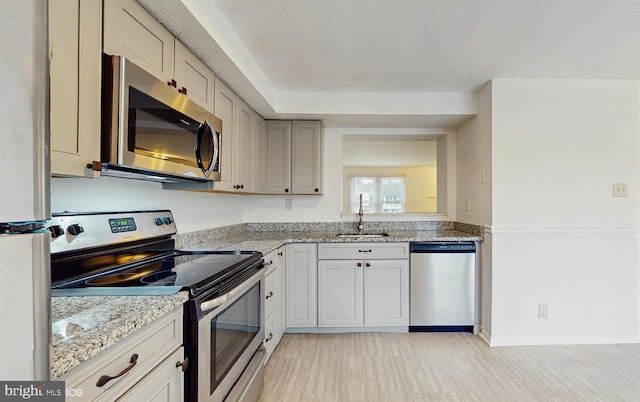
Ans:
[[[271,357],[284,334],[285,297],[284,297],[284,247],[264,256],[267,274],[265,277],[265,334],[264,346],[267,351],[265,364]]]

